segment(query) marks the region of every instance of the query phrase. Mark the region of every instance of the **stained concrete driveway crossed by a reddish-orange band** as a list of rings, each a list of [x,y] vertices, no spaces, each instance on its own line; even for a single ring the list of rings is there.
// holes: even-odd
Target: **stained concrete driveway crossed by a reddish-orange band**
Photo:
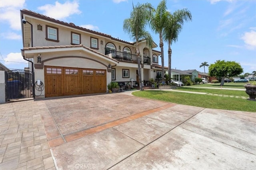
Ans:
[[[10,107],[16,104],[22,102]],[[130,92],[26,104],[24,112],[41,115],[56,169],[256,167],[256,113],[184,106]],[[1,128],[2,141],[4,134]]]

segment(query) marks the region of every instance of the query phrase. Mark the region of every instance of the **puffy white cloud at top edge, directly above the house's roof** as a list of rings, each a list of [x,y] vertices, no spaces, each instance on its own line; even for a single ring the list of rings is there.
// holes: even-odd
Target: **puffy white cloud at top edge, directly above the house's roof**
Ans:
[[[56,1],[54,5],[46,4],[38,7],[38,10],[44,11],[43,14],[48,17],[60,20],[72,14],[80,14],[81,11],[78,10],[78,7],[79,3],[77,1],[66,1],[64,4]]]

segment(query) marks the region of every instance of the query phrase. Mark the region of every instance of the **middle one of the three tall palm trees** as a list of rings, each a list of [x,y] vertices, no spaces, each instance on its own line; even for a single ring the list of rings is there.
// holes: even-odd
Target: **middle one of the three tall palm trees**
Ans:
[[[162,33],[164,31],[164,25],[167,20],[168,11],[166,7],[166,0],[162,0],[157,8],[154,16],[150,20],[150,28],[154,33],[159,34],[159,46],[161,49],[161,58],[162,58],[162,80],[164,80],[164,43]]]

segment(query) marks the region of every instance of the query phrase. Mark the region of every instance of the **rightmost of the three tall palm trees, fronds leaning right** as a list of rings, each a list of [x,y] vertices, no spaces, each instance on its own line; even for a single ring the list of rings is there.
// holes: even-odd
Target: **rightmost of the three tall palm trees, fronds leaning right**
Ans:
[[[184,21],[191,21],[191,12],[184,8],[182,10],[177,10],[173,14],[168,14],[168,20],[164,28],[164,40],[168,42],[168,74],[172,75],[171,63],[172,63],[172,42],[178,41],[178,35],[182,29]]]

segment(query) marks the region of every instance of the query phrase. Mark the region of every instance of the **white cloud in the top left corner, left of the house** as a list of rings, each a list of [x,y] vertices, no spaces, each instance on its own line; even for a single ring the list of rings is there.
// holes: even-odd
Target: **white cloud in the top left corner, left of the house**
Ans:
[[[0,21],[9,23],[10,28],[20,30],[20,9],[24,8],[25,0],[0,1]]]

